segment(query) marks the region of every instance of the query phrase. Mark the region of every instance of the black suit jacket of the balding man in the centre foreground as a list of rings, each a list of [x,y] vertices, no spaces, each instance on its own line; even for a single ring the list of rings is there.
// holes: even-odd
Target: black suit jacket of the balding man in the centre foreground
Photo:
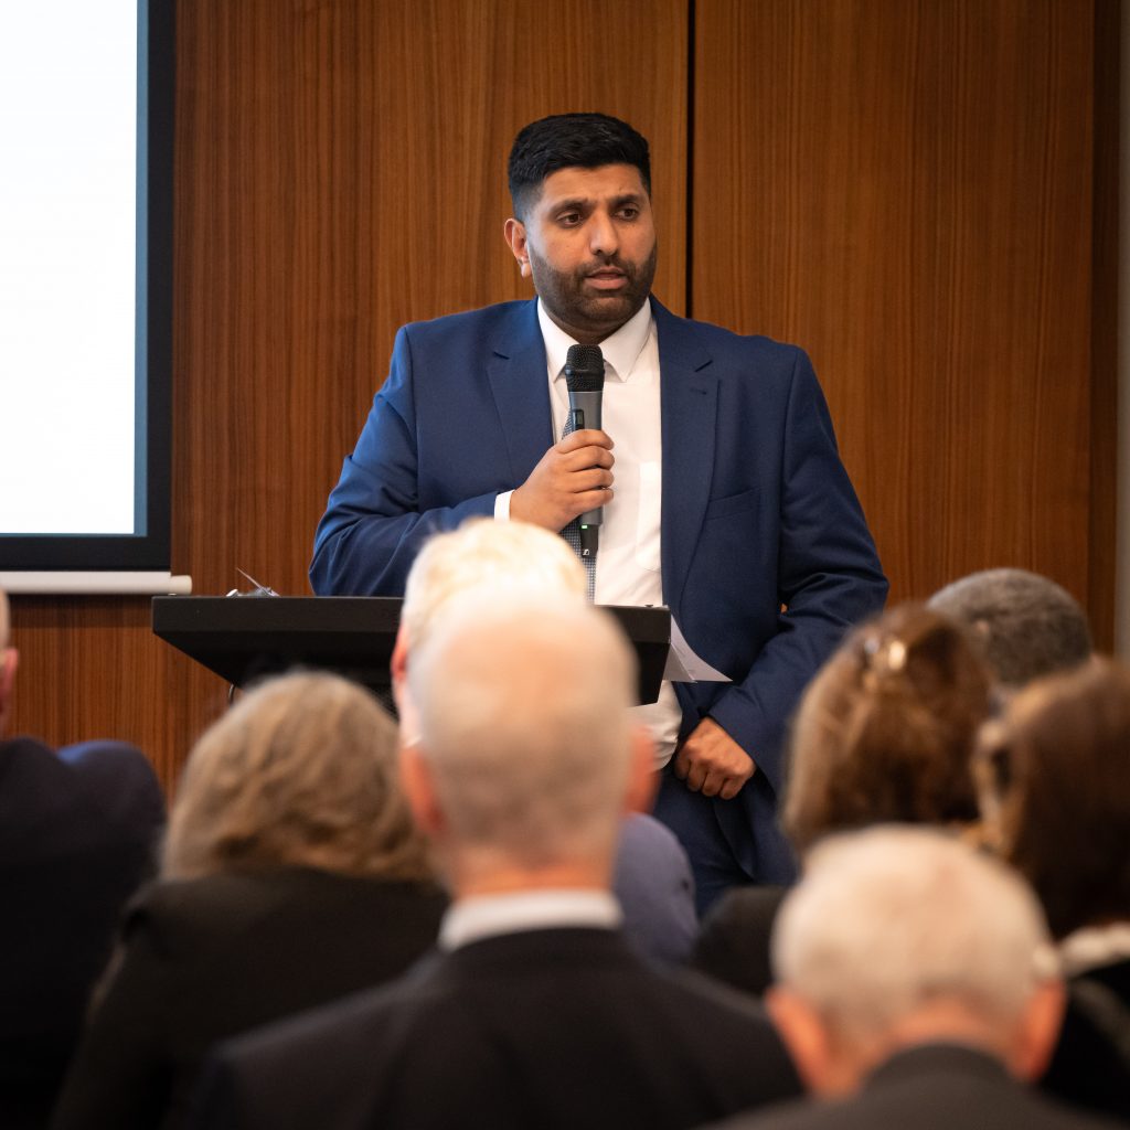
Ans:
[[[193,1125],[680,1130],[799,1092],[753,1002],[616,932],[549,929],[223,1046]]]

